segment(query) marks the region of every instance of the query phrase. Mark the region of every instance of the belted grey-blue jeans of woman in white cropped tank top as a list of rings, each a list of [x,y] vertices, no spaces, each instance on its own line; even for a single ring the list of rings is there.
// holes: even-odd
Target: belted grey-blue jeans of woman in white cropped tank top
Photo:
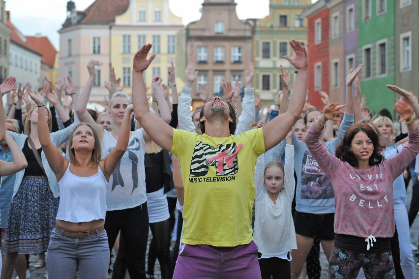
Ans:
[[[106,279],[110,259],[106,230],[86,237],[68,237],[53,229],[47,251],[49,279]]]

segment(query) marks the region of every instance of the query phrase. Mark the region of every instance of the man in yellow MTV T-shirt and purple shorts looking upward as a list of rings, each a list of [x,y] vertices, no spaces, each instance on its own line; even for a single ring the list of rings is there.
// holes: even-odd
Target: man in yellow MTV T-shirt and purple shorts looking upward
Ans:
[[[184,227],[175,279],[261,278],[251,230],[254,166],[257,156],[277,145],[301,117],[307,89],[305,49],[295,40],[290,45],[295,57],[285,58],[299,70],[290,109],[238,136],[236,111],[218,96],[201,110],[202,136],[173,129],[150,114],[143,71],[155,57],[147,59],[151,44],[134,57],[135,117],[154,142],[180,157],[182,166]],[[160,90],[159,82],[159,77],[153,80],[153,90]]]

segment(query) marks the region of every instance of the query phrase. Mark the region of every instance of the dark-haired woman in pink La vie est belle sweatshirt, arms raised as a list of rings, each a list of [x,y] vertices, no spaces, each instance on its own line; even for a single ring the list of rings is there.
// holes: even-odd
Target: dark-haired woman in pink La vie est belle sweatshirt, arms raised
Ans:
[[[319,136],[327,120],[334,120],[343,106],[330,104],[310,127],[304,141],[329,177],[334,190],[335,244],[329,261],[329,279],[357,278],[362,267],[371,278],[395,278],[390,238],[394,233],[393,181],[419,153],[419,115],[415,96],[388,85],[402,95],[394,105],[408,126],[409,143],[396,156],[384,160],[374,129],[354,125],[336,149],[326,151]]]

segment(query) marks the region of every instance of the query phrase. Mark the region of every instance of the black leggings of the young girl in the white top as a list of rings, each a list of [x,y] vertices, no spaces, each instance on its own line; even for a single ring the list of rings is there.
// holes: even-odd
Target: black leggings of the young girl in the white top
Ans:
[[[291,278],[291,266],[288,260],[271,257],[259,259],[262,279],[289,279]]]

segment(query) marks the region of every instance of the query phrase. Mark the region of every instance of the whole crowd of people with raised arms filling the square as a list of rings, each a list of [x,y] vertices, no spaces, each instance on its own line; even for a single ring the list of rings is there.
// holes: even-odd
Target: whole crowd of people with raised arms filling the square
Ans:
[[[368,114],[360,64],[346,78],[345,104],[320,92],[318,110],[306,101],[305,48],[290,45],[295,56],[284,58],[297,78],[291,85],[281,66],[283,90],[265,118],[252,64],[242,85],[223,83],[219,95],[203,85],[204,103],[191,112],[198,72],[186,66],[179,96],[172,63],[167,85],[153,77],[149,100],[151,44],[133,59],[132,103],[109,63],[112,97],[100,115],[87,109],[95,60],[79,94],[70,77],[46,80],[39,93],[7,78],[1,279],[14,270],[25,279],[30,254],[49,279],[77,270],[84,279],[153,279],[156,259],[162,279],[317,279],[320,244],[329,278],[414,278],[409,226],[419,201],[408,214],[405,172],[419,153],[417,98],[387,86],[400,95],[394,111],[406,128],[396,139],[391,114]]]

